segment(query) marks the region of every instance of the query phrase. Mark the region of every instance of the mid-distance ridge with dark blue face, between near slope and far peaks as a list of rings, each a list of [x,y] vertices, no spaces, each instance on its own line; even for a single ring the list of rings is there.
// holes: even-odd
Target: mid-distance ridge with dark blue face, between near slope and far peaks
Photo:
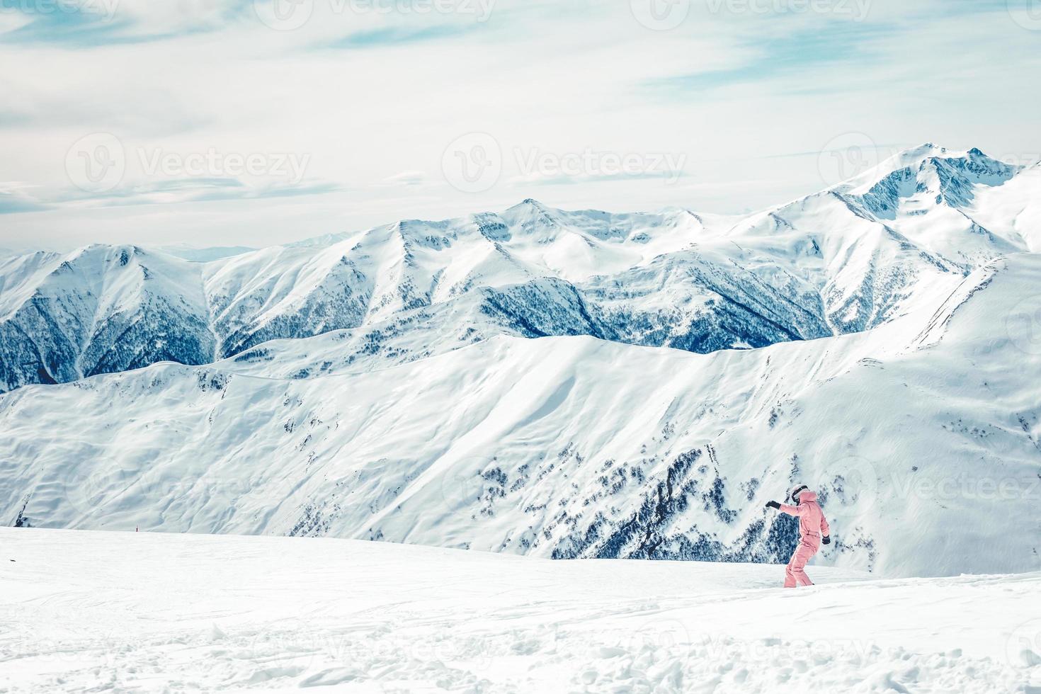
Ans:
[[[280,378],[365,371],[500,335],[588,335],[699,354],[831,335],[819,294],[780,267],[763,281],[766,267],[686,251],[578,284],[540,278],[479,287],[356,329],[265,342],[221,367]]]

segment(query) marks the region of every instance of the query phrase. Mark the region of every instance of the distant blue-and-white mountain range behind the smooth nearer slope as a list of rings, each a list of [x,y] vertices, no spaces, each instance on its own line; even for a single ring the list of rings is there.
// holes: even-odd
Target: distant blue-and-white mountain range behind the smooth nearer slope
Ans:
[[[192,256],[215,258],[205,263],[100,247],[7,259],[0,391],[335,331],[349,332],[280,357],[278,372],[384,368],[496,335],[705,354],[859,332],[942,299],[991,258],[1037,248],[1039,174],[929,145],[743,220],[527,200]]]

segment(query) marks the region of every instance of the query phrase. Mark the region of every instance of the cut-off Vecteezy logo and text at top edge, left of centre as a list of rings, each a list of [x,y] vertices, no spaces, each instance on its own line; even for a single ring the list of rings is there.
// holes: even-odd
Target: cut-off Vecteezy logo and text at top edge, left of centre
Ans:
[[[334,16],[458,15],[484,23],[491,18],[497,0],[253,0],[253,9],[265,26],[277,31],[294,31],[307,24],[322,2]]]

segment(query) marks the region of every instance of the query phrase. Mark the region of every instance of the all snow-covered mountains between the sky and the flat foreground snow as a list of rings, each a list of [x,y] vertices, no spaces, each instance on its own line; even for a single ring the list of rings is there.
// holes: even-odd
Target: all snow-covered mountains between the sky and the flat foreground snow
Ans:
[[[795,530],[763,504],[799,480],[818,561],[1038,569],[1039,174],[930,146],[744,220],[526,201],[8,261],[4,378],[74,381],[0,396],[0,512],[776,561]],[[181,363],[75,380],[151,361]]]

